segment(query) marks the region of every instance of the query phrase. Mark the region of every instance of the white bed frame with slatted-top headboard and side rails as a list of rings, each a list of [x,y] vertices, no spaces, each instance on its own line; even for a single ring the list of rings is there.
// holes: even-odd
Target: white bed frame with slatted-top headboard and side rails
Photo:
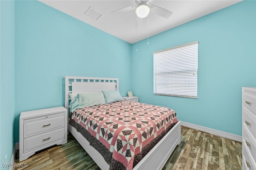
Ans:
[[[69,93],[88,94],[100,92],[101,90],[118,90],[118,78],[66,76],[65,79],[65,107],[68,110],[70,102]],[[84,136],[76,131],[69,123],[68,130],[102,170],[109,169],[110,166],[106,163],[102,155],[90,146],[90,143]],[[180,122],[178,122],[154,148],[146,154],[133,170],[162,170],[175,147],[180,144],[180,141],[181,131]]]

